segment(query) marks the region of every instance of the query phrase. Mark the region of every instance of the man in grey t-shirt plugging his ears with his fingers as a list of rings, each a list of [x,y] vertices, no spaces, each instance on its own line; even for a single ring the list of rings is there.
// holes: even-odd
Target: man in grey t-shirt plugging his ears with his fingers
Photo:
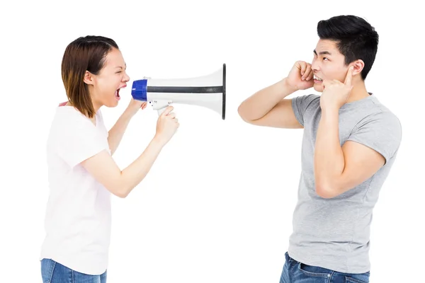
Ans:
[[[369,282],[372,211],[402,129],[365,88],[378,50],[375,29],[362,18],[336,16],[319,21],[317,33],[312,64],[296,62],[285,79],[244,100],[238,112],[253,125],[304,129],[280,282]],[[322,95],[285,98],[311,87]]]

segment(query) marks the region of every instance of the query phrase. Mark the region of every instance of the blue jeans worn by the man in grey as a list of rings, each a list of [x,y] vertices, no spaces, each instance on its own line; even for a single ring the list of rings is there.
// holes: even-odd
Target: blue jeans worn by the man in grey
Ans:
[[[370,272],[342,273],[326,268],[305,265],[285,253],[280,283],[368,283]]]

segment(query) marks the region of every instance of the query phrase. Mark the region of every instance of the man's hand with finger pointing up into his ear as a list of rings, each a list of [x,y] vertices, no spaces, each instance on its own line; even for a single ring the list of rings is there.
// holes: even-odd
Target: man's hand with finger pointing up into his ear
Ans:
[[[323,81],[324,91],[320,97],[320,108],[322,108],[322,110],[339,110],[339,108],[346,103],[348,96],[350,96],[351,89],[353,89],[351,85],[352,77],[353,67],[350,67],[344,83],[338,80]]]

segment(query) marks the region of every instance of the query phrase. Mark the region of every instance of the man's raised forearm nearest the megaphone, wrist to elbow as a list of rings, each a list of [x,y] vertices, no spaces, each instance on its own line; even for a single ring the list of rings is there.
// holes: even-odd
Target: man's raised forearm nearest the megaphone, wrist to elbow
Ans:
[[[286,79],[278,81],[246,98],[238,108],[239,115],[245,120],[260,119],[283,100],[283,98],[295,91],[295,89],[288,86]]]

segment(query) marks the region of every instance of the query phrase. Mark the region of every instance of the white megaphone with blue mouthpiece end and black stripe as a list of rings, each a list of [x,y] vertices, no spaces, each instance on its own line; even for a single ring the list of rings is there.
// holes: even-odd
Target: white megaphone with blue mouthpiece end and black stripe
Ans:
[[[143,79],[133,81],[135,100],[152,103],[158,115],[173,103],[203,106],[226,117],[226,64],[207,76],[186,79]]]

